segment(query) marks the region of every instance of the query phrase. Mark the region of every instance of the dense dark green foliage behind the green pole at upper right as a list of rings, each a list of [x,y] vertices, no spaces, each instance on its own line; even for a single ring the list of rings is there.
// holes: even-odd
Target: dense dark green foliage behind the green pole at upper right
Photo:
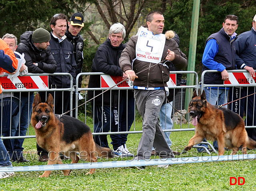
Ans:
[[[192,20],[193,0],[172,1],[172,6],[166,6],[164,13],[164,30],[174,30],[180,37],[180,49],[188,57],[190,43],[190,28]],[[252,28],[252,18],[256,14],[254,0],[201,0],[198,21],[198,36],[195,71],[201,74],[204,44],[210,34],[222,28],[222,22],[228,14],[238,16],[237,34]]]

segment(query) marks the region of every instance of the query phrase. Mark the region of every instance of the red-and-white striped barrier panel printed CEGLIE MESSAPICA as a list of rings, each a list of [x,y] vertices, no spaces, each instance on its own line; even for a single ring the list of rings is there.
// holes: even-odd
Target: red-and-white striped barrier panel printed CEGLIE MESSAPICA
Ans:
[[[0,78],[3,90],[36,89],[48,90],[48,76],[18,76],[8,79],[7,76]]]

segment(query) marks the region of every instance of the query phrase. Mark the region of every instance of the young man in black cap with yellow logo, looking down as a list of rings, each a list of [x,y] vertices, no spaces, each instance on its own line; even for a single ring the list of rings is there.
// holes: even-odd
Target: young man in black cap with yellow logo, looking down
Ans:
[[[82,66],[84,62],[83,49],[84,49],[84,39],[80,35],[80,30],[84,27],[84,16],[80,13],[74,13],[70,17],[68,22],[66,37],[69,42],[73,44],[74,47],[74,57],[76,60],[76,76],[82,72]],[[78,88],[81,88],[82,76],[78,79]],[[73,94],[73,108],[75,107],[75,94]],[[73,110],[73,117],[75,116],[75,110]]]

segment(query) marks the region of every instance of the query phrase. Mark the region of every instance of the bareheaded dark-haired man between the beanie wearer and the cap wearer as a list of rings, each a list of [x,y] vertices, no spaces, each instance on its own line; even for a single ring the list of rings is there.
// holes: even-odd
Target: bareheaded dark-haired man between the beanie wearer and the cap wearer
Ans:
[[[74,85],[76,79],[76,61],[74,58],[74,48],[68,42],[65,35],[67,22],[67,16],[62,13],[55,14],[52,17],[50,21],[52,28],[52,32],[50,33],[50,48],[57,63],[56,72],[71,74]],[[70,88],[69,76],[49,76],[49,88]],[[70,92],[48,92],[47,95],[40,93],[41,100],[45,101],[49,93],[54,95],[54,113],[62,114],[69,110]]]

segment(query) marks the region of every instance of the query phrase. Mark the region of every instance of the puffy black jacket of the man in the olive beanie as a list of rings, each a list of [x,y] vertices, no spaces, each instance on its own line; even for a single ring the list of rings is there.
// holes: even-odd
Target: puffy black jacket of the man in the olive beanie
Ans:
[[[54,60],[50,46],[46,50],[39,50],[32,42],[33,31],[26,31],[20,36],[20,44],[16,49],[20,54],[24,53],[26,60],[25,65],[28,66],[30,73],[54,73],[57,63]],[[37,62],[38,66],[33,63]]]

